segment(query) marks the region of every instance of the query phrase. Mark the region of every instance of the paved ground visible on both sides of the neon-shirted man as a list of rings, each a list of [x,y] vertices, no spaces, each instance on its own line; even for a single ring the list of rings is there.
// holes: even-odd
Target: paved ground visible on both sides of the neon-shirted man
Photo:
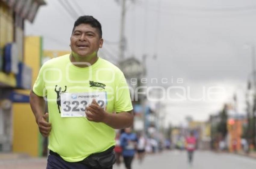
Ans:
[[[46,159],[16,159],[0,161],[0,169],[45,169]],[[170,151],[161,154],[148,155],[142,164],[133,162],[133,169],[253,169],[256,159],[227,153],[213,153],[197,151],[195,161],[189,166],[186,161],[186,152]],[[123,164],[114,169],[125,169]]]

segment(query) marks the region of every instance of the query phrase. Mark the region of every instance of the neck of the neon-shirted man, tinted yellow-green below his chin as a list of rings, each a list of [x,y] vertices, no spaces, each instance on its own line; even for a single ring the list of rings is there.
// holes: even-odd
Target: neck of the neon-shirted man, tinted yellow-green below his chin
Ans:
[[[88,67],[93,65],[98,60],[97,53],[93,53],[92,55],[81,57],[80,55],[71,52],[70,61],[73,65],[77,67]]]

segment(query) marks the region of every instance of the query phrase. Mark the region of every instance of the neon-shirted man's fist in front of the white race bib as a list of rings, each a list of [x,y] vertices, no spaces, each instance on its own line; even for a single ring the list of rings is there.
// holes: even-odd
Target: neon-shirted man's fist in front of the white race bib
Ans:
[[[86,108],[85,114],[89,121],[103,123],[105,122],[106,116],[108,115],[107,112],[105,112],[104,109],[98,105],[95,99],[93,99],[92,104]]]

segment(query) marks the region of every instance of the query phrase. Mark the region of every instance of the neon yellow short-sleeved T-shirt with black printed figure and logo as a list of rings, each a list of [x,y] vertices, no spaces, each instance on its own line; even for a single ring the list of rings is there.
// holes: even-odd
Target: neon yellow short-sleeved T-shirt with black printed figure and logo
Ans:
[[[108,113],[133,109],[123,73],[102,58],[89,67],[80,68],[70,62],[68,54],[47,61],[39,71],[33,92],[47,96],[52,123],[48,148],[65,161],[78,162],[115,145],[115,131],[105,123],[91,122],[86,117],[61,117],[60,107],[64,104],[57,99],[61,93],[95,91],[106,93]]]

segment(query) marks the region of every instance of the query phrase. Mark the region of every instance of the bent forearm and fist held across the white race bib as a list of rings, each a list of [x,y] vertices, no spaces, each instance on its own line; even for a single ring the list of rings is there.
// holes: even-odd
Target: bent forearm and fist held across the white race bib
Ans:
[[[86,108],[86,118],[89,121],[102,122],[114,129],[123,129],[133,124],[133,111],[107,113],[93,99],[92,104]]]

